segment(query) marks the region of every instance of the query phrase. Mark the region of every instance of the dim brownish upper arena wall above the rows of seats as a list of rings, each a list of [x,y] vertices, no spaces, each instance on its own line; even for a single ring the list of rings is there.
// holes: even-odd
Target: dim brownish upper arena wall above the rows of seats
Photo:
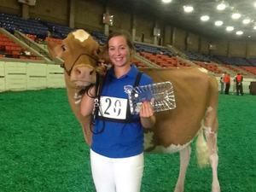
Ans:
[[[74,0],[74,25],[87,30],[104,32],[102,15],[106,12],[106,7],[101,1]],[[29,7],[29,16],[42,20],[57,22],[68,26],[69,23],[69,0],[38,0],[36,6]],[[57,9],[56,9],[57,8]],[[109,29],[125,29],[131,32],[133,10],[126,9],[125,5],[116,6],[115,3],[108,4],[109,13],[113,15],[113,26]],[[22,4],[17,0],[1,0],[0,11],[5,13],[21,15]],[[164,44],[172,44],[178,49],[188,49],[200,51],[208,54],[208,45],[211,42],[216,44],[216,50],[212,50],[212,55],[230,55],[242,57],[256,57],[256,45],[250,41],[228,41],[226,39],[211,39],[200,36],[195,32],[188,32],[176,26],[166,25],[154,15],[147,15],[136,12],[136,39],[140,40],[142,33],[145,34],[145,42],[154,43],[154,27],[160,28],[161,38]],[[191,44],[186,44],[189,37]]]

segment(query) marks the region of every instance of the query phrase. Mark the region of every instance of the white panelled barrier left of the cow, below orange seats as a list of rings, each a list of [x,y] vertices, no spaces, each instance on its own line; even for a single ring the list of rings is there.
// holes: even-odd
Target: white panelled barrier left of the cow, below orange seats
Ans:
[[[64,88],[63,73],[57,65],[0,61],[0,92]]]

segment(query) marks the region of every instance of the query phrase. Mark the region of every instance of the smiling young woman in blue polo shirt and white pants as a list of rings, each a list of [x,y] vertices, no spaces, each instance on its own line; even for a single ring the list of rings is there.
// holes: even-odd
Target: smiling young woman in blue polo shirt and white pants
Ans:
[[[97,192],[139,192],[144,167],[143,127],[152,127],[155,117],[150,102],[143,102],[139,115],[131,115],[127,89],[136,82],[139,86],[153,84],[153,80],[145,74],[136,80],[138,71],[131,65],[135,49],[128,32],[112,32],[107,44],[113,66],[104,78],[101,106],[93,129],[92,177]],[[95,95],[95,87],[89,90],[89,95]],[[94,99],[84,94],[81,113],[90,115],[93,108]]]

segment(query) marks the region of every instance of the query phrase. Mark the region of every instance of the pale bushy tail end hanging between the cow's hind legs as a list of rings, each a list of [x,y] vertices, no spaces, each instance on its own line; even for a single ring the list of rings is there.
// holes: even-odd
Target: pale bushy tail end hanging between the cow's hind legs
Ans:
[[[201,129],[198,131],[198,137],[196,141],[196,154],[198,166],[206,167],[209,164],[209,150],[207,141],[203,134],[203,121],[201,122]]]

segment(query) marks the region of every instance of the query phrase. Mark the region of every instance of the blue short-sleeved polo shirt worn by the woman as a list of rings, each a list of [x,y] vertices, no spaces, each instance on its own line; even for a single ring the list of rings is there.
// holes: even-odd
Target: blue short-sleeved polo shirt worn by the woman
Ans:
[[[127,85],[133,86],[137,78],[137,73],[137,68],[131,65],[131,70],[117,79],[113,73],[113,67],[111,67],[104,79],[102,98],[111,97],[117,98],[117,100],[128,100],[125,87]],[[153,84],[153,80],[143,73],[139,86],[146,84]],[[105,104],[107,105],[107,108],[104,108],[102,113],[110,112],[111,105],[118,105],[119,108],[124,108],[120,107],[119,102],[113,102],[117,100],[113,99],[110,101],[106,99],[106,101],[102,101],[101,99],[101,102],[106,102]],[[115,113],[118,112],[115,111]],[[132,115],[132,118],[139,118],[139,115]],[[96,119],[94,132],[101,131],[102,127],[103,121]],[[143,153],[143,126],[140,122],[117,123],[105,120],[104,131],[100,134],[93,134],[92,136],[91,149],[97,154],[102,154],[110,158],[125,158],[141,154]]]

